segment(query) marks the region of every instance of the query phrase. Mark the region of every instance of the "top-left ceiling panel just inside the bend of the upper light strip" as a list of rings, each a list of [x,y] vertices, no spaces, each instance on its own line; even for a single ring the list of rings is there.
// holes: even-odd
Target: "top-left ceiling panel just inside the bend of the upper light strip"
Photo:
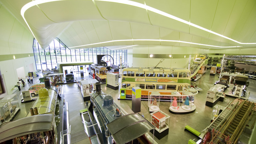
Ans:
[[[40,4],[39,7],[50,20],[58,23],[76,20],[104,20],[92,1],[56,1],[50,4]]]

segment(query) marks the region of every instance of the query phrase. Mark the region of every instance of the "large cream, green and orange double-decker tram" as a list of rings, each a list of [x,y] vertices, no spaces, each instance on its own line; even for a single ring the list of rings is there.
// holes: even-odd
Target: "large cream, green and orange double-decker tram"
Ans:
[[[132,98],[132,87],[141,88],[141,99],[151,92],[161,95],[182,92],[190,88],[190,70],[185,68],[124,68],[120,99]]]

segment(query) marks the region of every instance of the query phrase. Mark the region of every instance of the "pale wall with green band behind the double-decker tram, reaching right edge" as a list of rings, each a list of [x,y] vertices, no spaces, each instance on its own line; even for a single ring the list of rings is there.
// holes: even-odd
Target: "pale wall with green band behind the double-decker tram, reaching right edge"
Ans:
[[[164,46],[164,45],[139,45],[133,47],[133,67],[155,67],[162,58],[141,58],[141,54],[167,54],[179,55],[179,58],[164,58],[164,61],[157,67],[163,68],[188,68],[189,55],[190,63],[202,53],[209,53],[209,57],[222,57],[223,54],[232,55],[256,55],[256,48],[247,49],[203,49],[196,47]],[[140,54],[139,56],[134,56]],[[217,55],[216,55],[217,54]],[[220,55],[219,55],[220,54]],[[184,58],[186,55],[186,58]]]

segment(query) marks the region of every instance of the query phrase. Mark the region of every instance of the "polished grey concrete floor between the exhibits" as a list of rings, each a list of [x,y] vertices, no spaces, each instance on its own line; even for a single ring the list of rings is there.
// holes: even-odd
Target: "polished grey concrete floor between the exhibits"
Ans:
[[[156,137],[154,138],[154,140],[156,140],[158,144],[165,144],[165,143],[186,144],[188,143],[189,139],[192,139],[192,140],[196,139],[194,135],[192,135],[187,131],[184,131],[184,127],[186,125],[189,125],[195,130],[201,132],[202,130],[204,130],[205,127],[207,127],[210,124],[213,108],[205,106],[206,93],[207,93],[207,90],[211,87],[211,85],[219,79],[218,76],[219,76],[218,74],[216,74],[215,76],[210,76],[209,70],[208,70],[202,76],[202,78],[200,78],[196,82],[192,82],[192,83],[196,83],[196,85],[199,88],[203,89],[203,91],[199,92],[196,95],[196,98],[195,98],[196,111],[193,113],[184,114],[184,115],[172,114],[169,112],[170,102],[160,102],[160,110],[162,110],[164,113],[170,116],[170,128],[169,128],[169,134],[166,135],[161,140],[158,140]],[[256,80],[249,79],[249,82],[250,82],[250,85],[247,88],[247,90],[250,90],[251,92],[249,101],[256,102],[256,91],[255,91]],[[30,85],[31,84],[26,84],[25,87],[21,87],[21,89],[27,90],[30,87]],[[89,138],[86,138],[86,136],[84,135],[85,134],[84,125],[82,123],[82,118],[79,114],[79,110],[85,108],[85,102],[83,101],[83,98],[81,96],[80,87],[78,87],[76,83],[63,84],[62,86],[64,89],[64,99],[65,101],[68,102],[68,107],[69,107],[69,124],[71,125],[71,143],[76,143],[76,144],[90,143]],[[112,90],[106,87],[106,84],[101,84],[101,89],[103,92],[112,95],[114,98],[114,101],[118,103],[122,108],[124,108],[128,113],[133,113],[131,110],[132,108],[131,100],[117,100],[119,96],[119,90]],[[17,96],[20,95],[20,92],[19,91],[17,92]],[[223,107],[226,107],[228,103],[233,99],[234,98],[226,97],[224,98],[223,102],[219,101],[217,104]],[[148,104],[147,101],[141,101],[140,114],[144,113],[145,118],[149,120],[150,113],[149,113],[147,104]],[[22,118],[24,115],[26,115],[31,105],[32,105],[32,102],[20,103],[21,111],[18,113],[15,119]],[[149,134],[152,136],[151,133]]]

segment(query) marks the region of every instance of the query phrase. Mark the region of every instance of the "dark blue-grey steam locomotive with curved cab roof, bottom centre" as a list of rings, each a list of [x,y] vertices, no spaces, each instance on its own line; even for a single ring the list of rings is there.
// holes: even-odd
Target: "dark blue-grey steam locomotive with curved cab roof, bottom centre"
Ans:
[[[86,103],[88,111],[82,114],[85,132],[91,142],[94,143],[95,140],[100,144],[122,144],[130,141],[151,143],[145,133],[154,129],[154,126],[138,113],[125,114],[111,95],[101,91],[100,84],[96,83],[96,91],[90,98],[91,103]],[[90,120],[86,120],[88,115]]]

